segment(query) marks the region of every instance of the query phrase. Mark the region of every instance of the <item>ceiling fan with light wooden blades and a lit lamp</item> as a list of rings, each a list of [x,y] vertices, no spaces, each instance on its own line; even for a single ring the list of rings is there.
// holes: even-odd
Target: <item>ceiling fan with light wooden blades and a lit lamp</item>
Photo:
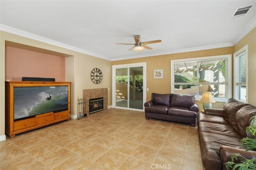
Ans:
[[[140,35],[134,35],[134,40],[135,43],[134,44],[130,44],[130,43],[116,43],[116,44],[123,44],[123,45],[134,45],[132,48],[130,48],[128,51],[131,51],[132,49],[134,49],[134,51],[142,51],[144,48],[145,49],[149,49],[152,50],[151,47],[148,47],[147,44],[153,44],[153,43],[160,43],[162,42],[162,40],[158,39],[158,40],[154,40],[154,41],[145,41],[145,42],[140,42]]]

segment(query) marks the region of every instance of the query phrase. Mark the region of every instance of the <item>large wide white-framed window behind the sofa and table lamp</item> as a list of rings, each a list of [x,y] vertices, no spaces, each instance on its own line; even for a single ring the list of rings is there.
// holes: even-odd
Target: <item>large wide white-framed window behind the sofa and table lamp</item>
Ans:
[[[171,61],[171,91],[193,94],[200,100],[203,92],[212,92],[218,102],[231,97],[231,55],[199,57]]]

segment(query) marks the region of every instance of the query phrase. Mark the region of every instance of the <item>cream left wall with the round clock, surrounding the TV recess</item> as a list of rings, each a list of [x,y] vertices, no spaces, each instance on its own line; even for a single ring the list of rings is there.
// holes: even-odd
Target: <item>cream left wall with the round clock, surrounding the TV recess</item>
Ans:
[[[65,78],[71,81],[71,116],[77,115],[77,99],[83,97],[83,89],[109,88],[112,89],[112,65],[111,61],[78,53],[76,51],[57,47],[40,41],[32,40],[5,31],[0,31],[0,137],[5,134],[5,46],[6,41],[20,43],[40,49],[66,54]],[[70,57],[71,56],[71,57]],[[99,64],[100,63],[100,64]],[[100,68],[103,72],[103,80],[100,84],[94,84],[90,79],[93,68]],[[108,91],[108,106],[112,102],[112,92]]]

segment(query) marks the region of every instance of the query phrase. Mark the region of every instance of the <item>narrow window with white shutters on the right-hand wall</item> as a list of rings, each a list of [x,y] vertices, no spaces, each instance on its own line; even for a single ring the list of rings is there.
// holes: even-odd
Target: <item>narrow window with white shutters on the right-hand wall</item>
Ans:
[[[234,98],[247,102],[248,45],[234,53]]]

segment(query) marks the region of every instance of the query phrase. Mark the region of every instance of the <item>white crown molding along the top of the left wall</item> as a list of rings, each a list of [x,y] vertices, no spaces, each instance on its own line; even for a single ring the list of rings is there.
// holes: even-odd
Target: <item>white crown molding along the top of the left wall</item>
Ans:
[[[60,43],[58,41],[54,41],[52,39],[48,39],[48,38],[45,38],[45,37],[42,37],[42,36],[39,36],[39,35],[36,35],[36,34],[33,34],[33,33],[22,31],[20,29],[16,29],[16,28],[4,25],[4,24],[0,24],[0,30],[8,32],[8,33],[15,34],[15,35],[20,35],[22,37],[33,39],[33,40],[36,40],[36,41],[40,41],[40,42],[43,42],[43,43],[47,43],[47,44],[50,44],[50,45],[55,45],[55,46],[58,46],[58,47],[62,47],[62,48],[65,48],[65,49],[69,49],[69,50],[72,50],[72,51],[83,53],[83,54],[86,54],[86,55],[91,55],[93,57],[98,57],[98,58],[101,58],[101,59],[109,60],[105,56],[102,56],[102,55],[99,55],[99,54],[96,54],[96,53],[93,53],[93,52],[90,52],[90,51],[86,51],[86,50],[83,50],[83,49],[80,49],[80,48],[77,48],[77,47],[74,47],[74,46],[71,46],[71,45]]]

